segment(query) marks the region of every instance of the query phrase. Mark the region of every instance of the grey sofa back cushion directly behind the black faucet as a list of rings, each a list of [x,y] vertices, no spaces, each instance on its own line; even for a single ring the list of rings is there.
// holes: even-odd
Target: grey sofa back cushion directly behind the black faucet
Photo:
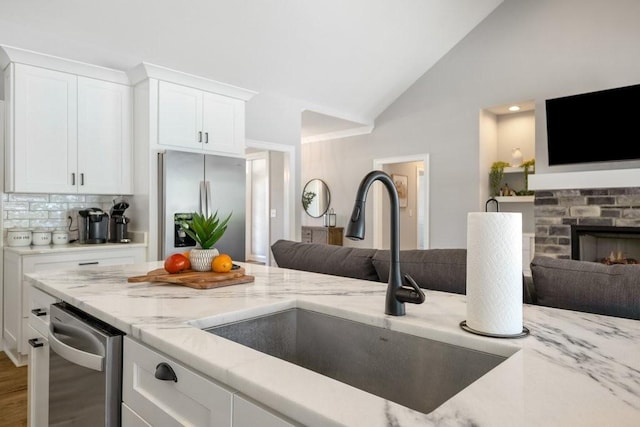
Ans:
[[[389,281],[390,259],[388,250],[379,250],[373,257],[373,266],[381,282]],[[464,294],[467,290],[467,250],[403,250],[400,251],[400,272],[411,276],[421,288]]]

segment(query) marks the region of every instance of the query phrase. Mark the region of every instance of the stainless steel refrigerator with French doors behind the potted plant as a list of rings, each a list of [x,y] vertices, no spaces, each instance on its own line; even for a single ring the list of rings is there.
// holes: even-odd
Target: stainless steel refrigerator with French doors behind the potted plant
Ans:
[[[166,151],[158,154],[160,259],[195,247],[177,221],[194,212],[224,219],[227,231],[214,245],[234,261],[245,260],[246,161],[236,157]]]

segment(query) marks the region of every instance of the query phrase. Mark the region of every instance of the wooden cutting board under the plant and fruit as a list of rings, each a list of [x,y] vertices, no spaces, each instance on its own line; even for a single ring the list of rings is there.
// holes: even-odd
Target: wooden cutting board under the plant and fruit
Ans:
[[[254,277],[244,274],[244,268],[240,267],[227,273],[214,271],[185,270],[180,273],[170,274],[164,268],[151,270],[144,276],[129,277],[129,283],[156,282],[189,286],[195,289],[221,288],[223,286],[239,285],[253,282]]]

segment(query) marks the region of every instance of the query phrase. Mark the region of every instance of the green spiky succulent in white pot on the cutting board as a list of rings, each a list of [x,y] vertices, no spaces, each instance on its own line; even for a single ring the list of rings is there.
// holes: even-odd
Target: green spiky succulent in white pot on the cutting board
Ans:
[[[218,218],[218,211],[213,215],[200,215],[194,212],[191,219],[180,222],[182,230],[196,241],[198,248],[192,249],[189,254],[191,268],[196,271],[210,271],[211,261],[219,255],[215,243],[220,240],[231,219],[231,213],[224,219]]]

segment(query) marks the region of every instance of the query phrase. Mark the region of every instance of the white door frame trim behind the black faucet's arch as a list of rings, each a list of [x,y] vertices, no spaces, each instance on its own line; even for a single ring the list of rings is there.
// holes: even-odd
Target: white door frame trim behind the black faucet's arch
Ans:
[[[424,168],[424,182],[422,191],[422,209],[424,213],[424,229],[423,229],[423,241],[424,248],[429,249],[429,153],[413,154],[407,156],[398,157],[383,157],[380,159],[373,159],[373,169],[383,170],[384,166],[391,163],[410,163],[410,162],[422,162]],[[382,249],[382,186],[377,185],[372,188],[373,190],[373,247],[375,249]],[[416,215],[417,218],[417,215]]]

